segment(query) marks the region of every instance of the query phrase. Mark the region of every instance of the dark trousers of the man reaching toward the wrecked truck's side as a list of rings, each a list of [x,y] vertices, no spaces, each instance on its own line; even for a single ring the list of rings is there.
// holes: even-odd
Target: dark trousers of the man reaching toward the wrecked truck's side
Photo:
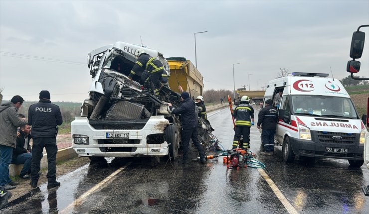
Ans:
[[[201,143],[197,138],[197,127],[182,130],[181,138],[182,138],[183,161],[184,162],[188,161],[189,139],[192,139],[193,144],[196,146],[198,154],[200,155],[200,159],[205,157],[202,151]]]

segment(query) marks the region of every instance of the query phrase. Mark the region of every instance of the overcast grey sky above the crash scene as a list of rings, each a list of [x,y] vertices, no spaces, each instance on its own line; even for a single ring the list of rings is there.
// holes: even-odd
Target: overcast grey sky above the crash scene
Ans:
[[[0,88],[4,100],[82,102],[89,51],[143,44],[195,63],[204,89],[261,86],[280,68],[347,77],[352,33],[369,24],[369,0],[33,1],[0,0]],[[369,76],[369,29],[361,76]],[[43,57],[43,58],[42,58]],[[33,58],[33,59],[27,59]],[[55,60],[63,60],[59,63]],[[34,60],[37,59],[37,60]],[[252,74],[252,75],[248,75]],[[250,77],[250,81],[248,79]],[[248,88],[248,87],[247,87]]]

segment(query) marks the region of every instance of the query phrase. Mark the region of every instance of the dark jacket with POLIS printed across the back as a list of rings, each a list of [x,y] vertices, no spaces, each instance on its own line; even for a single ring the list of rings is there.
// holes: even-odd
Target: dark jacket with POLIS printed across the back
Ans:
[[[28,123],[32,125],[32,138],[56,137],[63,119],[58,106],[42,99],[28,108]]]

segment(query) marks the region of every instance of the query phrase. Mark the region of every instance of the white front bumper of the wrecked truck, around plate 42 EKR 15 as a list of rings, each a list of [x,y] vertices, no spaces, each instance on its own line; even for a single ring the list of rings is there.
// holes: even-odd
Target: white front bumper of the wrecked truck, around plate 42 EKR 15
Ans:
[[[152,116],[142,129],[95,129],[86,117],[76,117],[71,124],[72,146],[82,157],[165,156],[169,154],[167,141],[148,144],[147,139],[149,135],[163,134],[167,125],[169,121],[164,116]],[[107,139],[107,132],[129,133],[129,138]],[[88,136],[89,144],[76,144],[75,135]]]

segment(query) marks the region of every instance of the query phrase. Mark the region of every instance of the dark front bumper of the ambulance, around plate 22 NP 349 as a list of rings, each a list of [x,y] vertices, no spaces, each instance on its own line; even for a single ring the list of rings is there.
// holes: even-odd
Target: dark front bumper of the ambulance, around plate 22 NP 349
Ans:
[[[346,160],[363,160],[364,158],[364,145],[348,145],[348,144],[335,144],[335,143],[320,143],[311,140],[301,140],[296,138],[290,138],[290,144],[292,146],[293,153],[295,155],[306,157],[325,157],[336,158]],[[347,154],[340,153],[327,153],[326,147],[329,148],[345,148],[348,149]]]

